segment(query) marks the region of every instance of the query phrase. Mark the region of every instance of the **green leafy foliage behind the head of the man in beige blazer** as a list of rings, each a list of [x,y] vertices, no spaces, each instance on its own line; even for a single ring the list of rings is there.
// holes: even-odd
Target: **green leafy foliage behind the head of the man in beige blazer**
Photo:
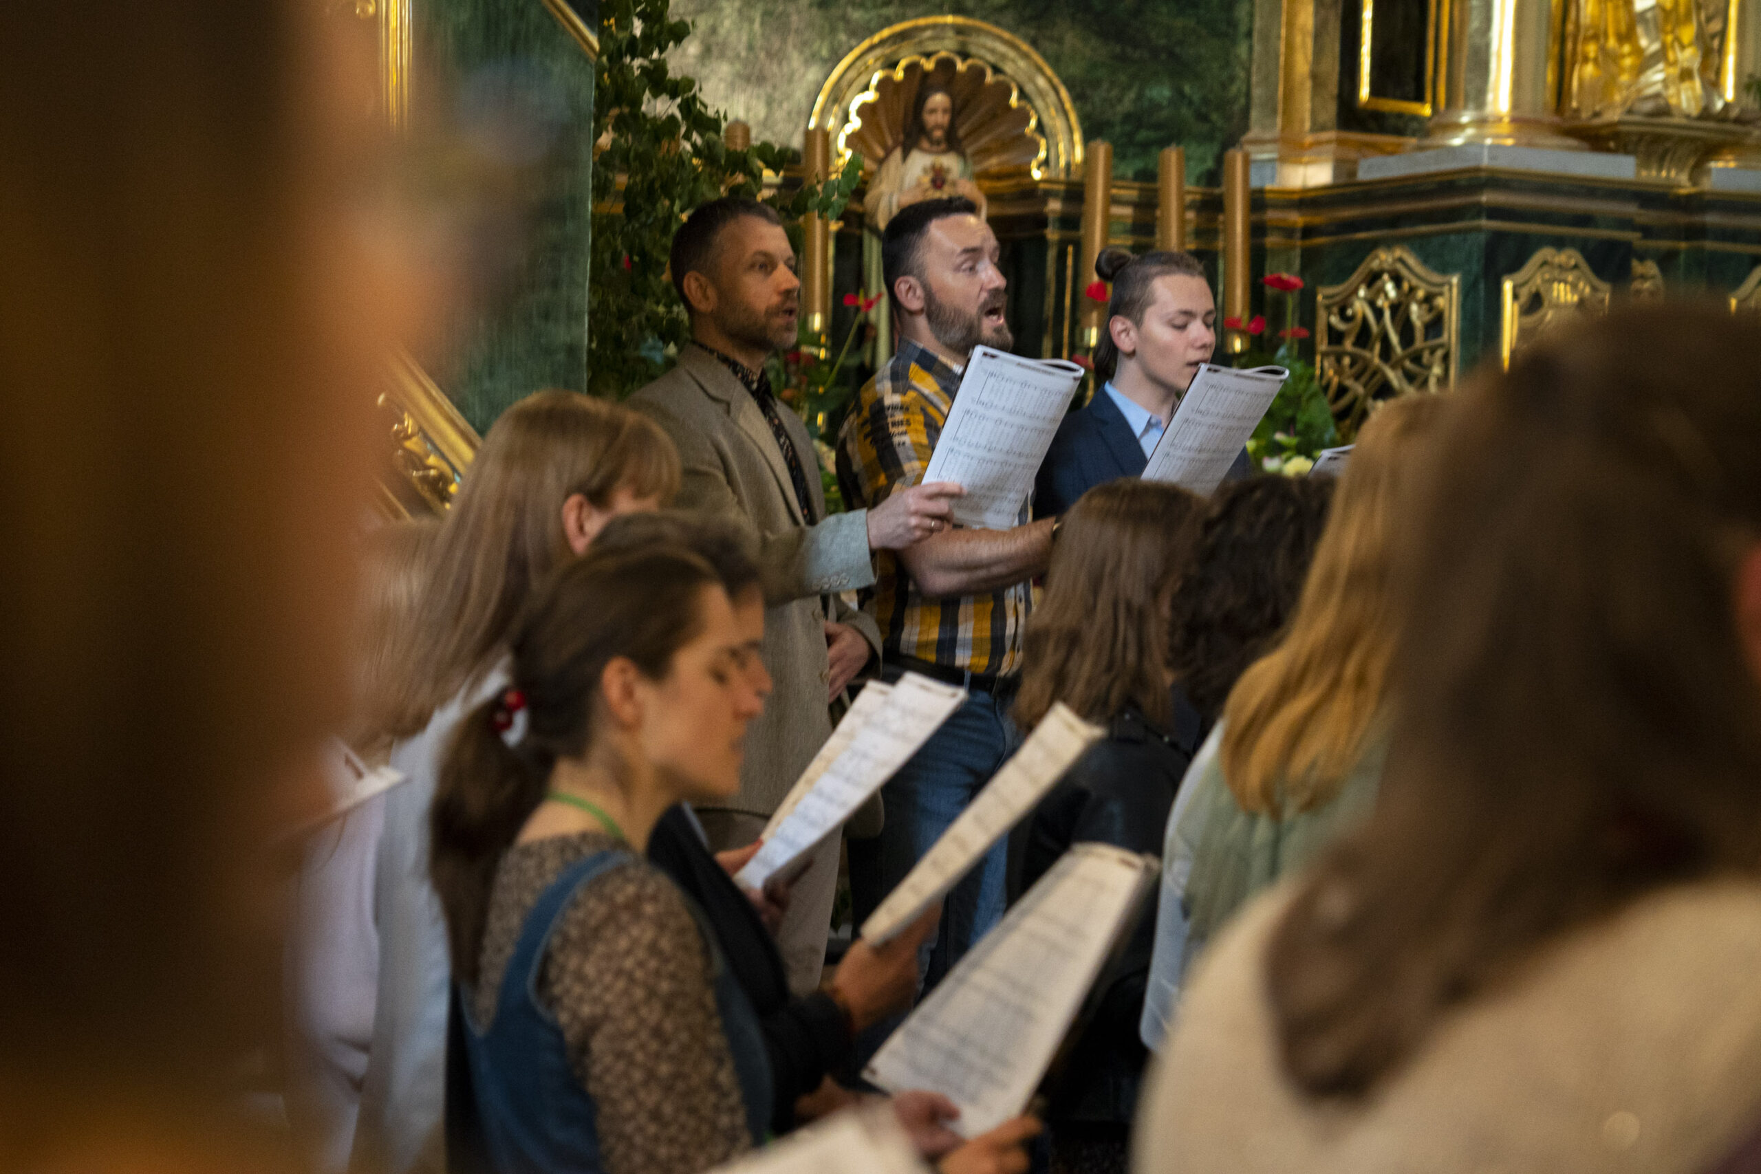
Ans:
[[[852,158],[819,185],[764,195],[799,151],[771,143],[731,150],[720,111],[667,51],[690,35],[669,0],[604,0],[595,65],[593,232],[588,276],[588,391],[622,400],[660,375],[690,338],[685,306],[667,278],[673,232],[697,204],[745,194],[777,208],[799,250],[799,220],[835,218],[861,178]],[[597,148],[595,148],[597,150]]]

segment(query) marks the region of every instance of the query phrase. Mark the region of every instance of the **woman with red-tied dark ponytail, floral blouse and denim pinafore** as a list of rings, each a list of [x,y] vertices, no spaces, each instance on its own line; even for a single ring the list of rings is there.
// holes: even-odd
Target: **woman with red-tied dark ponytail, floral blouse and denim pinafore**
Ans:
[[[770,686],[754,660],[715,570],[676,546],[588,554],[532,600],[433,799],[465,1061],[451,1169],[692,1174],[763,1141],[757,1019],[643,859],[669,806],[740,789]]]

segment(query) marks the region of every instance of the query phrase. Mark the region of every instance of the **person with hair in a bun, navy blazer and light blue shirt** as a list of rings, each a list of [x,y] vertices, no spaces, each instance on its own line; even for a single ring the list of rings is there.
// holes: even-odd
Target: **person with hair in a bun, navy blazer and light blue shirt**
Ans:
[[[1143,473],[1180,396],[1217,345],[1217,303],[1192,253],[1132,257],[1106,248],[1095,273],[1113,285],[1094,356],[1102,384],[1051,440],[1034,488],[1037,517],[1057,517],[1095,486]],[[1229,479],[1247,472],[1243,452]]]

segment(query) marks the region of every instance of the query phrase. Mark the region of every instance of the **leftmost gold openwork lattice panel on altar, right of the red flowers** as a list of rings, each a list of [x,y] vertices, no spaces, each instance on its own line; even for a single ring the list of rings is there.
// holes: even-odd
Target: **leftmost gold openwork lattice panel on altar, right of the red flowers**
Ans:
[[[1315,359],[1349,440],[1377,400],[1455,384],[1462,276],[1444,276],[1400,245],[1377,248],[1338,285],[1315,290]]]

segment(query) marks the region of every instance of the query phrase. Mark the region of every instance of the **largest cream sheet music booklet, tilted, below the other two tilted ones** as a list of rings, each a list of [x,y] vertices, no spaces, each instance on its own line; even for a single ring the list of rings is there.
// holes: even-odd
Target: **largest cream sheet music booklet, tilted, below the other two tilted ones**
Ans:
[[[1020,1116],[1157,871],[1153,855],[1072,847],[888,1037],[863,1075],[889,1093],[946,1095],[960,1107],[951,1128],[962,1137]]]

